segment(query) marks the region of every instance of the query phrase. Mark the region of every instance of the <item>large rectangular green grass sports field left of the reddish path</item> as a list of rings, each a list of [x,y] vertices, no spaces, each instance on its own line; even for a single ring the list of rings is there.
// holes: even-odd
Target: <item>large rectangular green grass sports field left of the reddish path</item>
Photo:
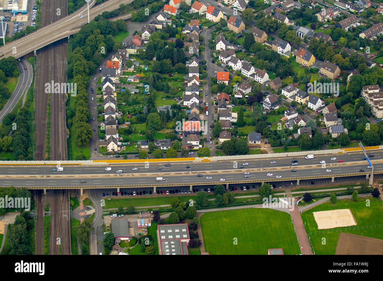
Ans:
[[[210,255],[267,255],[268,249],[276,248],[282,248],[285,255],[301,253],[290,215],[282,211],[215,211],[203,214],[200,222]]]

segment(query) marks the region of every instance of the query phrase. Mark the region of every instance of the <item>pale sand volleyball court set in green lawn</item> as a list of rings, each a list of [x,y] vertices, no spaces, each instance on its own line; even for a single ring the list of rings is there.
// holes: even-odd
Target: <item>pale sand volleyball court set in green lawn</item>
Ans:
[[[355,226],[357,223],[349,209],[314,212],[318,229]]]

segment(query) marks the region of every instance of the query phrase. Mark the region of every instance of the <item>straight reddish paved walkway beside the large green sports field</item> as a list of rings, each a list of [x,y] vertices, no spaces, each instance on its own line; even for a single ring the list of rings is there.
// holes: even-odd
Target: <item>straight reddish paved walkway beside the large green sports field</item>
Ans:
[[[291,193],[290,189],[286,189],[286,196],[287,198],[292,198],[293,194]],[[303,255],[312,255],[313,252],[311,251],[309,239],[306,235],[306,230],[303,226],[303,221],[301,218],[301,213],[299,212],[299,208],[295,208],[298,206],[290,205],[289,203],[289,211],[291,220],[293,221],[293,226],[295,229],[296,237],[298,238],[299,247],[301,248],[301,253]]]

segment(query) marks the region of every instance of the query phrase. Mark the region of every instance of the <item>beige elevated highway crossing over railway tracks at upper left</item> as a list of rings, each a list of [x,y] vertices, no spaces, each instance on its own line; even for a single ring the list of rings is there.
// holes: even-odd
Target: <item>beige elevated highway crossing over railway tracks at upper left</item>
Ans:
[[[90,21],[97,16],[102,14],[103,11],[113,11],[119,8],[120,4],[128,4],[133,0],[108,0],[104,2],[104,6],[100,5],[93,6],[95,0],[89,3],[89,18]],[[52,13],[55,11],[52,11]],[[131,13],[130,13],[131,14]],[[80,18],[79,15],[83,15]],[[57,40],[69,37],[72,34],[79,32],[81,26],[88,23],[87,5],[82,6],[79,10],[74,13],[62,18],[59,21],[51,23],[43,28],[38,29],[26,36],[23,36],[15,41],[5,44],[0,47],[0,54],[5,57],[13,56],[15,58],[22,57],[32,51],[51,44]]]

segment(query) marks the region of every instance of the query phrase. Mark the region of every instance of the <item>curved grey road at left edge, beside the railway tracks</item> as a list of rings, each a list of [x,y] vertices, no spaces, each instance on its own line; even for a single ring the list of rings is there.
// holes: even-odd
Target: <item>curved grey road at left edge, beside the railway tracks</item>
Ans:
[[[28,89],[32,84],[33,79],[33,67],[26,60],[26,58],[20,58],[20,61],[17,62],[17,66],[23,70],[23,73],[20,73],[19,81],[16,85],[15,91],[13,91],[11,97],[9,98],[7,104],[0,111],[0,123],[3,122],[5,115],[10,113],[13,108],[15,108],[17,102],[20,100],[20,97],[23,96],[23,93],[28,93]],[[26,67],[26,70],[24,69]]]

